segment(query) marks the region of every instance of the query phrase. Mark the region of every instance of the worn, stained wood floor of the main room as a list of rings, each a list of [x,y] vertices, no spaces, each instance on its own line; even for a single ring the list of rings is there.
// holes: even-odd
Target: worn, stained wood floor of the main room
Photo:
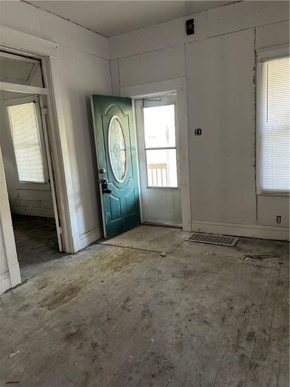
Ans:
[[[22,274],[1,301],[1,385],[289,384],[285,242],[185,241],[166,257],[96,244]]]

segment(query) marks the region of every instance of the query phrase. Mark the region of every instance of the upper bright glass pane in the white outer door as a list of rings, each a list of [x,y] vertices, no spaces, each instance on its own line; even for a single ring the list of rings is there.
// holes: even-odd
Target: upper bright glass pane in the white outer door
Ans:
[[[175,147],[174,104],[144,107],[146,148]]]

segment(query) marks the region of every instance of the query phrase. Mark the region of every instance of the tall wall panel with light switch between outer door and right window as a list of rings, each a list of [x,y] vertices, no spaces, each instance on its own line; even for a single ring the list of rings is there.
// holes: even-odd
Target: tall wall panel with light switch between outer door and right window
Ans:
[[[254,39],[248,29],[186,45],[194,221],[256,221]]]

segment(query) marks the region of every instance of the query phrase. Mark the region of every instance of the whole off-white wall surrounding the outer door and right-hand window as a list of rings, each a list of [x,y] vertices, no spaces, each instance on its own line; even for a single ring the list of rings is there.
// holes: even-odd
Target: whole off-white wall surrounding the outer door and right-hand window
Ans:
[[[108,39],[115,95],[186,79],[194,230],[288,238],[289,199],[257,196],[255,166],[255,50],[289,43],[288,19],[288,2],[247,1]]]

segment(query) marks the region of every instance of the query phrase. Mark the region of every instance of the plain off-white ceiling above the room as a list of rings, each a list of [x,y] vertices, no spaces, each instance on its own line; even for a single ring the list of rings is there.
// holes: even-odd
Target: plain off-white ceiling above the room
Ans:
[[[27,3],[109,37],[220,7],[233,0],[28,0]]]

